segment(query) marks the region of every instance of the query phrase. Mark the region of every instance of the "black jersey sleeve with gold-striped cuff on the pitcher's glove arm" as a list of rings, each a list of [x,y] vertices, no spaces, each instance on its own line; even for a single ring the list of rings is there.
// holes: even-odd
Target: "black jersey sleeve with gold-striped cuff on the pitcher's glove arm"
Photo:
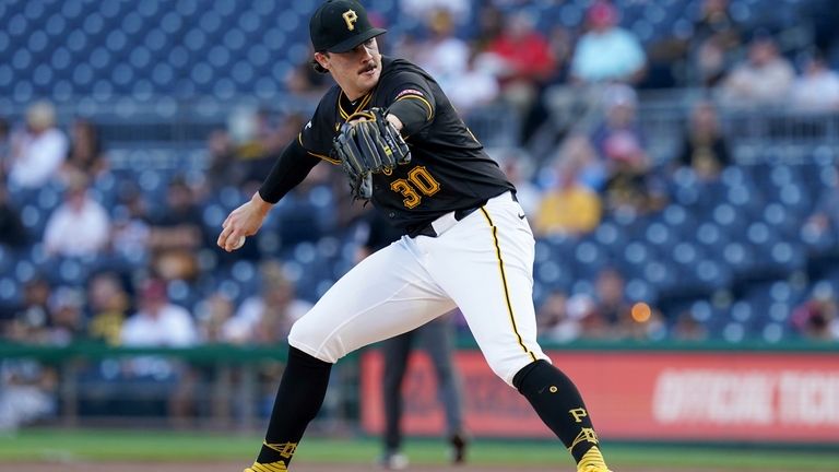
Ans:
[[[428,81],[413,71],[399,71],[381,84],[387,96],[388,111],[395,115],[404,127],[402,134],[410,137],[422,131],[434,119],[436,103]]]

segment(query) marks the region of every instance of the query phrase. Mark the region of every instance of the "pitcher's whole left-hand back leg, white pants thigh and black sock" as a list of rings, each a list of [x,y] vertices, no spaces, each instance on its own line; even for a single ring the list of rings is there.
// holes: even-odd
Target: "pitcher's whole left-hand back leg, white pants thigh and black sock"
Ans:
[[[393,271],[393,268],[400,268]],[[288,366],[265,441],[247,472],[285,470],[323,402],[331,365],[363,345],[414,329],[450,310],[411,252],[395,244],[362,261],[292,327]]]

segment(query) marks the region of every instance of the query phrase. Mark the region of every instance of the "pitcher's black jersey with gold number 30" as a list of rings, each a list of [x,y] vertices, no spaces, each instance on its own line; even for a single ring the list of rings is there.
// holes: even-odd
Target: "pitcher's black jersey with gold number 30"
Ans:
[[[350,115],[413,99],[427,116],[420,126],[406,123],[402,130],[411,163],[373,179],[373,204],[394,226],[411,233],[445,213],[475,208],[513,190],[430,75],[403,59],[382,58],[381,63],[379,82],[365,96],[350,102],[335,85],[321,98],[299,135],[299,144],[309,154],[338,164],[332,140]]]

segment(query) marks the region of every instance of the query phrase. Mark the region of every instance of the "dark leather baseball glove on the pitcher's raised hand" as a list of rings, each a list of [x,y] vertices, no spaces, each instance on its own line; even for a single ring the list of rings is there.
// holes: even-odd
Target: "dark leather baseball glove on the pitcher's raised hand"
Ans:
[[[405,140],[386,116],[387,111],[381,108],[354,113],[332,143],[355,199],[373,197],[374,174],[390,172],[399,164],[411,162]]]

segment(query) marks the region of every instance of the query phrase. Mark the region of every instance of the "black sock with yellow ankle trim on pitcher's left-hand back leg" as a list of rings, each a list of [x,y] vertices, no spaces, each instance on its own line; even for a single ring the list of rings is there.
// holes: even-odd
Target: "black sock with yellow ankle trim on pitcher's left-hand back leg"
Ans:
[[[288,349],[280,389],[276,391],[268,433],[253,472],[281,472],[288,468],[306,426],[323,404],[332,364],[315,358],[295,347]]]

